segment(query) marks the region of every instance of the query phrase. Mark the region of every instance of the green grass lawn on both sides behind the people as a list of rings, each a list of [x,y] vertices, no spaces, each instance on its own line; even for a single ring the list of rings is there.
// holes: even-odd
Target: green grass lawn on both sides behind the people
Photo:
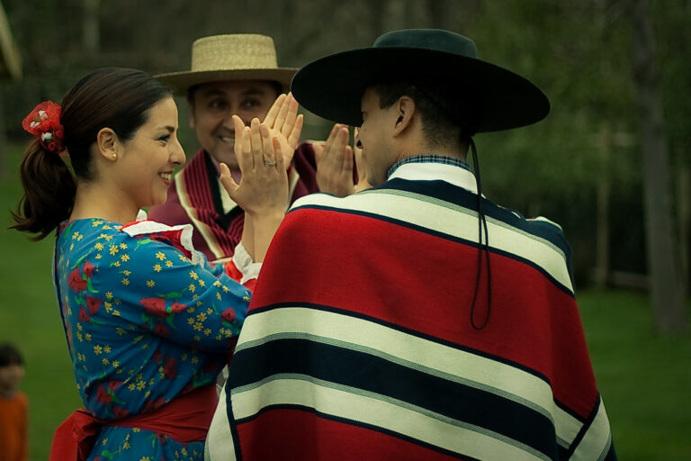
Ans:
[[[52,239],[6,230],[20,196],[18,162],[16,152],[5,158],[10,174],[0,181],[0,341],[26,359],[31,459],[43,460],[53,430],[81,402],[52,287]],[[691,459],[691,333],[657,335],[642,294],[583,291],[579,305],[620,459]]]

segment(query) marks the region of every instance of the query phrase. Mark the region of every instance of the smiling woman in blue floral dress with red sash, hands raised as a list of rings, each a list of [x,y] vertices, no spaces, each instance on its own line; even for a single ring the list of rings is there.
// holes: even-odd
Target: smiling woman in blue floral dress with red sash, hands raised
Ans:
[[[56,431],[51,460],[202,459],[215,379],[250,296],[229,275],[251,287],[288,203],[279,138],[300,127],[282,122],[236,124],[240,185],[220,172],[246,231],[220,266],[192,248],[191,226],[137,221],[165,202],[185,159],[175,102],[153,77],[99,69],[24,120],[36,140],[14,227],[38,238],[57,229],[56,291],[85,403]]]

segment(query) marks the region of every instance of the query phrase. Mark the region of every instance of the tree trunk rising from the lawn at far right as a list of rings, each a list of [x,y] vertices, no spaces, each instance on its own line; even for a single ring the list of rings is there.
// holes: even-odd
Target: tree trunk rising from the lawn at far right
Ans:
[[[669,174],[669,149],[657,95],[658,68],[647,0],[631,0],[633,70],[638,92],[643,149],[643,189],[651,299],[658,330],[684,330],[681,264],[675,250]]]

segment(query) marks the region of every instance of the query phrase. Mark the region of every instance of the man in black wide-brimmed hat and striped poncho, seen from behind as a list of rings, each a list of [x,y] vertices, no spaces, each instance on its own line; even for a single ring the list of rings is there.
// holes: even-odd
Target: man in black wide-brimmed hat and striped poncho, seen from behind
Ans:
[[[208,459],[615,459],[561,228],[482,197],[465,161],[474,133],[543,119],[543,92],[439,30],[313,61],[292,91],[360,127],[374,187],[286,215]]]

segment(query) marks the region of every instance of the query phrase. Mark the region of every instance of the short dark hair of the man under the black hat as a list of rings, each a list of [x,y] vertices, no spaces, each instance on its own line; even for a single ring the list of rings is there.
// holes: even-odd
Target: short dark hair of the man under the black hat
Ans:
[[[458,99],[450,97],[453,95],[450,88],[453,86],[425,80],[393,80],[374,85],[381,109],[388,109],[403,95],[415,101],[427,142],[438,146],[455,141],[462,149],[468,149],[471,136],[477,130],[476,104],[466,98],[467,106],[458,107],[453,103]]]

